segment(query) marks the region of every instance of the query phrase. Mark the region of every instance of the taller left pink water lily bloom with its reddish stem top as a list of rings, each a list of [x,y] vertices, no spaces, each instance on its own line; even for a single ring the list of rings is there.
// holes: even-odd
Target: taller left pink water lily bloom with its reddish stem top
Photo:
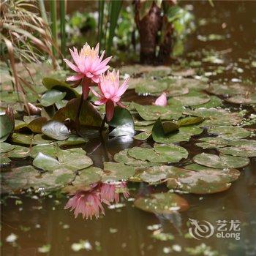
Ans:
[[[106,70],[108,70],[109,66],[107,64],[112,57],[108,57],[102,61],[105,50],[99,57],[99,44],[97,44],[94,49],[91,48],[87,42],[83,45],[80,52],[78,52],[78,49],[75,47],[73,50],[69,50],[75,64],[72,64],[72,62],[67,59],[64,59],[64,61],[78,74],[67,78],[67,81],[78,81],[78,83],[76,83],[78,85],[80,81],[83,80],[83,99],[87,99],[91,82],[99,83],[99,75],[102,75]]]

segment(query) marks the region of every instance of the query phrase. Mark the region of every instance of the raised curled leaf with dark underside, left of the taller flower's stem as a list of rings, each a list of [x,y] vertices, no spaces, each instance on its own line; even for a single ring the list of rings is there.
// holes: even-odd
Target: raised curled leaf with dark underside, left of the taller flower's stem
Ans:
[[[48,90],[58,90],[65,92],[65,99],[72,99],[75,97],[79,97],[79,94],[75,89],[73,89],[71,86],[69,86],[68,83],[53,79],[53,78],[43,78],[42,84],[48,89]],[[63,98],[62,98],[63,99]]]

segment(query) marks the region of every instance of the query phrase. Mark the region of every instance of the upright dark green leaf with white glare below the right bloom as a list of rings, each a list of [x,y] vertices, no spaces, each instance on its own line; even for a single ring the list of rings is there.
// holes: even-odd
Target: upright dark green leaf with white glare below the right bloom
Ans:
[[[135,132],[135,124],[131,113],[129,113],[129,110],[118,106],[115,108],[114,116],[108,122],[108,125],[116,128],[109,133],[110,136],[132,136]]]

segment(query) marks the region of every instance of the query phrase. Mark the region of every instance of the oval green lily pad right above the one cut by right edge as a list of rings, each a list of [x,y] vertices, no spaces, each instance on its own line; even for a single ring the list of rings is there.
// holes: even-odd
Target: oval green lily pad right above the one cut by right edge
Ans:
[[[208,133],[218,135],[225,140],[236,140],[246,138],[251,135],[251,132],[242,127],[220,126],[211,127],[208,129]]]

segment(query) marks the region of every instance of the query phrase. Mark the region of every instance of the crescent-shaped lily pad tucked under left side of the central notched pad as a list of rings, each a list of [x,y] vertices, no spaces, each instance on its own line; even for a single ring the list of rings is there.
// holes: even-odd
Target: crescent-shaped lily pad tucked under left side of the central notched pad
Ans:
[[[130,157],[128,154],[128,150],[124,149],[122,151],[120,151],[119,153],[114,155],[114,160],[116,162],[121,162],[125,165],[130,165],[130,166],[135,166],[135,167],[147,167],[147,166],[154,166],[157,165],[157,163],[153,163],[153,162],[148,162],[148,161],[143,161],[143,160],[138,160],[135,159],[134,157]]]

